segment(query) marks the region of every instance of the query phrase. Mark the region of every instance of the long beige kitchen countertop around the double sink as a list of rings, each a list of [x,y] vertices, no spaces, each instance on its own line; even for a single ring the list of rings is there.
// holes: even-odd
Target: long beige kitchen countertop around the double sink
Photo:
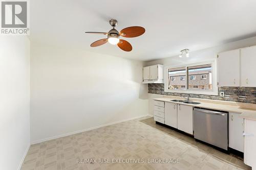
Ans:
[[[201,108],[207,108],[207,109],[215,109],[215,110],[240,113],[239,116],[241,118],[256,121],[256,104],[189,98],[190,101],[201,103],[201,104],[195,105],[195,104],[186,104],[181,102],[173,102],[172,100],[175,100],[175,99],[184,100],[183,98],[180,98],[177,96],[166,97],[166,98],[156,98],[154,100],[162,101],[162,102],[177,103],[177,104],[193,106],[193,107],[201,107]]]

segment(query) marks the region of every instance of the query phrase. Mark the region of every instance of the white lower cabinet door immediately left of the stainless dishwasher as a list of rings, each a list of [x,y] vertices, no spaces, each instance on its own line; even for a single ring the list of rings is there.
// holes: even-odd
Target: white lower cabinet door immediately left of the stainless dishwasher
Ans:
[[[178,104],[178,129],[193,134],[193,107]]]

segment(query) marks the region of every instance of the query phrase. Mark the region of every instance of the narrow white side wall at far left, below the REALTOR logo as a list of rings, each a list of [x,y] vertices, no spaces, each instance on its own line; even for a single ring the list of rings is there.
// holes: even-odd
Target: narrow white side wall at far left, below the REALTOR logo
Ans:
[[[30,145],[30,42],[0,38],[0,169],[18,169]]]

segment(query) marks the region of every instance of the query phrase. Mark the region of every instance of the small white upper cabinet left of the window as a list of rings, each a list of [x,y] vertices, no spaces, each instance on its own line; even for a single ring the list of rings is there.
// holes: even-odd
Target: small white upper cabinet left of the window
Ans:
[[[143,67],[143,83],[163,83],[163,65]]]

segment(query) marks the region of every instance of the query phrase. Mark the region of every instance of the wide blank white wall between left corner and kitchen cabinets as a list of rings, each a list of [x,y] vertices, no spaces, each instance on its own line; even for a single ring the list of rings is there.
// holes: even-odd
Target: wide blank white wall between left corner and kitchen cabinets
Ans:
[[[33,43],[32,143],[147,115],[142,68],[141,61]]]

